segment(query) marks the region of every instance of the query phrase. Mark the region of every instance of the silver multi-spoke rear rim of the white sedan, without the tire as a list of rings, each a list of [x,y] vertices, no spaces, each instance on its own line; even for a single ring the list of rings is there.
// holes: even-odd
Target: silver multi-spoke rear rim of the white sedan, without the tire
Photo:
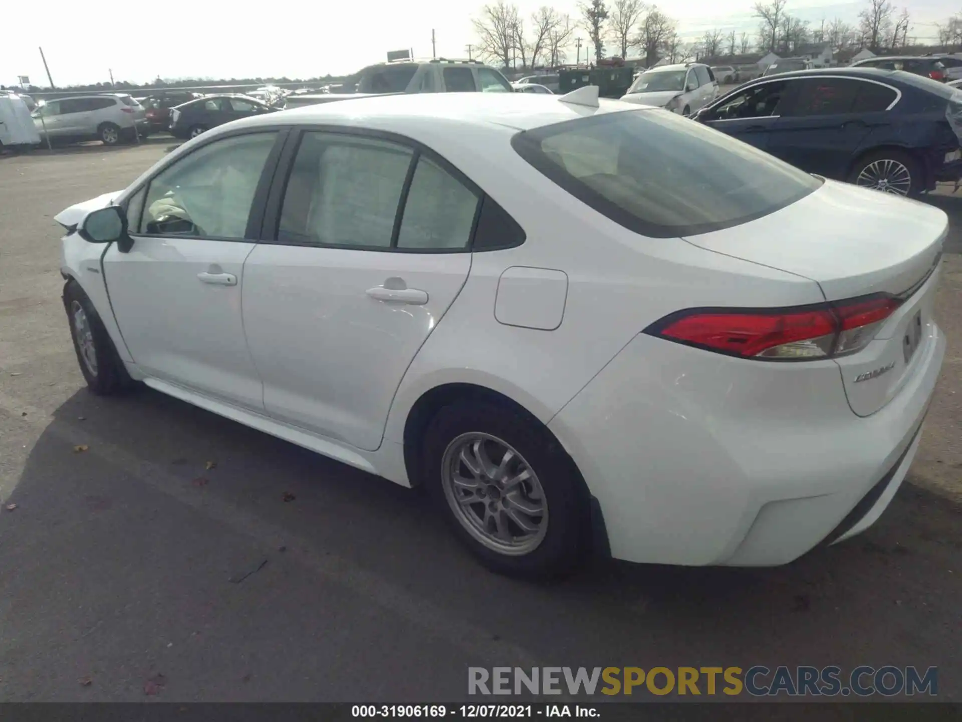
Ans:
[[[476,431],[461,434],[444,451],[441,474],[455,518],[488,549],[519,556],[544,540],[544,488],[507,442]]]

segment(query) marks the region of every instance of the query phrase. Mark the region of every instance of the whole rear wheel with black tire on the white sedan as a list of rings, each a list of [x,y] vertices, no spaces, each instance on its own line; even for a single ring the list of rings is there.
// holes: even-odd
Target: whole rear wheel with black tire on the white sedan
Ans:
[[[492,571],[545,579],[584,558],[587,493],[538,420],[490,400],[458,401],[428,425],[423,454],[434,502]]]

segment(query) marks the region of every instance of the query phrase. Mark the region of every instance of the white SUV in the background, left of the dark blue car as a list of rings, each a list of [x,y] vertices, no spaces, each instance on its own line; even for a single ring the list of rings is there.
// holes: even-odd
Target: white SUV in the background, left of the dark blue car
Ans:
[[[712,69],[703,63],[679,63],[652,67],[631,84],[621,100],[654,105],[682,116],[690,116],[719,94]]]

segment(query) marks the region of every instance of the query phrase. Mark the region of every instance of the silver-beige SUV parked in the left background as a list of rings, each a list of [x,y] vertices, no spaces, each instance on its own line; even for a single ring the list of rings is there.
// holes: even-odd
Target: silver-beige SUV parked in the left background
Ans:
[[[74,95],[48,100],[34,113],[40,137],[51,141],[103,141],[116,145],[147,135],[143,106],[127,93]]]

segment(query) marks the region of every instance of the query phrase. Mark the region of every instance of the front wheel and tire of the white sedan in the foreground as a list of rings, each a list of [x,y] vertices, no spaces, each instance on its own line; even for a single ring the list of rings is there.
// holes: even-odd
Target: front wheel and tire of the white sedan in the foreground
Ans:
[[[89,390],[97,396],[111,396],[133,386],[97,310],[75,280],[67,281],[63,287],[63,308],[77,363]]]

